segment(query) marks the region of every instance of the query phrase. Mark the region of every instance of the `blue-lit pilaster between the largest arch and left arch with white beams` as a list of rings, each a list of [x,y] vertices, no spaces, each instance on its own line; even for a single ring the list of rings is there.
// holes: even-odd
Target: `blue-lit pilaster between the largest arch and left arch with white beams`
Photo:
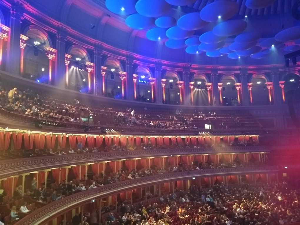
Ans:
[[[55,59],[55,73],[51,78],[53,85],[63,86],[65,84],[65,68],[66,64],[64,63],[65,52],[66,52],[66,41],[67,35],[64,32],[58,32],[56,34],[56,59]],[[50,81],[50,80],[49,80]]]

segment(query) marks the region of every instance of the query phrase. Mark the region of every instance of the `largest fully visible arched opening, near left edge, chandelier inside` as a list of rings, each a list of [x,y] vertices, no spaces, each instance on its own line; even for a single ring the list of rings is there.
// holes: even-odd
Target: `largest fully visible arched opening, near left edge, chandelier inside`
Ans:
[[[50,47],[47,33],[38,27],[29,28],[25,34],[29,39],[24,49],[23,77],[48,83],[49,58],[46,48]]]

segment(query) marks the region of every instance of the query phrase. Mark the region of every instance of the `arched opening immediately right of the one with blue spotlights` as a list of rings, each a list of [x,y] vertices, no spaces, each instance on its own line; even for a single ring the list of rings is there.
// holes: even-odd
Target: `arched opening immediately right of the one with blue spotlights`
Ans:
[[[166,79],[165,104],[179,105],[180,91],[177,82],[180,81],[180,79],[178,74],[175,71],[167,71],[164,79]]]

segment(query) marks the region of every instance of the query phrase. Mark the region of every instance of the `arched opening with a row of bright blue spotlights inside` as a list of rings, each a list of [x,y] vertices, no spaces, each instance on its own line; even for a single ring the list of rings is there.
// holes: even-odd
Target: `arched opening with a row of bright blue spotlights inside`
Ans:
[[[151,102],[151,85],[150,78],[152,74],[148,67],[138,66],[135,70],[136,81],[136,95],[137,101]]]

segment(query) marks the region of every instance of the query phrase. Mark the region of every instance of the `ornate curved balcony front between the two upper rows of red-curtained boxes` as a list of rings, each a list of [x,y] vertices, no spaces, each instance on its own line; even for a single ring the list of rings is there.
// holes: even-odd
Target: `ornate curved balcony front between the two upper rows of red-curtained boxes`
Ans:
[[[229,153],[258,153],[269,152],[269,147],[226,147],[226,148],[191,148],[191,149],[154,149],[128,152],[104,152],[74,155],[55,155],[32,158],[17,158],[0,161],[0,179],[21,173],[31,173],[36,170],[47,170],[56,167],[66,167],[79,164],[99,163],[114,160],[127,160],[134,158],[201,155],[201,154],[229,154]]]

